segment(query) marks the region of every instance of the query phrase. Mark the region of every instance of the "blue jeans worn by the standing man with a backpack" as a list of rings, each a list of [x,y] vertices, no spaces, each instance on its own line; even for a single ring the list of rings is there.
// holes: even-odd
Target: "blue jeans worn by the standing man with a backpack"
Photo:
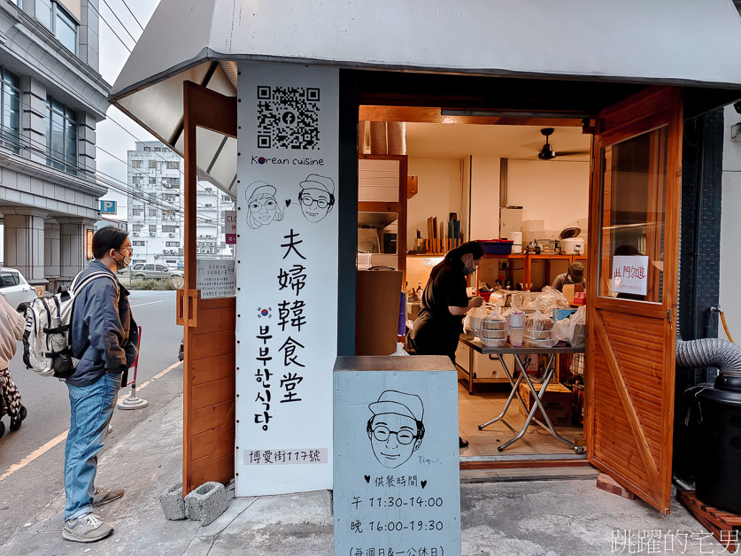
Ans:
[[[65,521],[93,511],[97,452],[108,436],[120,386],[120,373],[106,373],[88,386],[67,384],[71,416],[65,446]]]

